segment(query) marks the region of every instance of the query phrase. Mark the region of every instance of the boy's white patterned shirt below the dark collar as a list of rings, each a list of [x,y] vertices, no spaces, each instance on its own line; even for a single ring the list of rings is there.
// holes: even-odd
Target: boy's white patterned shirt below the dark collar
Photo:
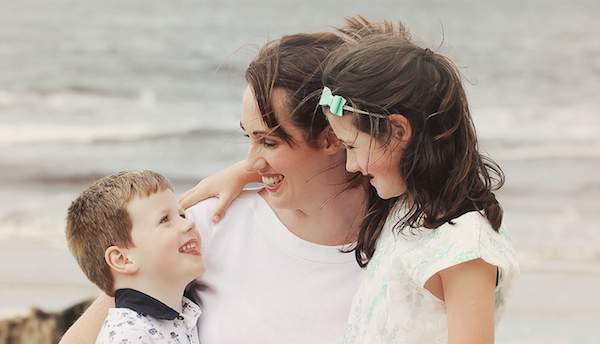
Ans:
[[[183,298],[183,312],[173,320],[156,319],[129,308],[110,308],[96,344],[198,344],[200,307]]]

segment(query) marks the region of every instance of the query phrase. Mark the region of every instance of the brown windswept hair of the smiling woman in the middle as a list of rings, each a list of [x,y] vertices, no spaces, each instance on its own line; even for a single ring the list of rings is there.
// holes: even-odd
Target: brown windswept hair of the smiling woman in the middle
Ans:
[[[318,106],[323,88],[322,64],[342,43],[340,36],[328,32],[284,36],[266,44],[246,70],[246,81],[254,92],[262,120],[288,144],[293,139],[275,116],[273,90],[286,91],[291,110],[287,120],[314,147],[315,139],[329,126]]]

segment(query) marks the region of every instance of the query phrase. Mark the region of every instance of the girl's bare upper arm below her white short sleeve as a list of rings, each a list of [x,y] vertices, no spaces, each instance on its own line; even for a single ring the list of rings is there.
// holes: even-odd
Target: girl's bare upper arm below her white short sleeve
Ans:
[[[448,314],[448,343],[494,343],[497,268],[483,259],[438,273]]]

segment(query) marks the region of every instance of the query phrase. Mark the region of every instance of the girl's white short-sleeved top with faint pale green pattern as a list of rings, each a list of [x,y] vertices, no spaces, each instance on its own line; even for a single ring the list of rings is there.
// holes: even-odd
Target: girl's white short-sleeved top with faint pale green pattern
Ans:
[[[478,212],[468,212],[435,230],[400,235],[388,218],[375,254],[361,275],[344,343],[447,343],[444,302],[424,288],[437,272],[482,258],[498,267],[496,325],[519,275],[504,226],[495,232]]]

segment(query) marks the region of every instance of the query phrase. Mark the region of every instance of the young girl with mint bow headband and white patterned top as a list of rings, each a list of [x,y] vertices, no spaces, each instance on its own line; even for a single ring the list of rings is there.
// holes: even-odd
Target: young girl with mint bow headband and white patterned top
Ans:
[[[386,200],[356,244],[363,271],[345,343],[493,343],[519,269],[456,66],[402,24],[348,19],[320,104],[346,168]]]

